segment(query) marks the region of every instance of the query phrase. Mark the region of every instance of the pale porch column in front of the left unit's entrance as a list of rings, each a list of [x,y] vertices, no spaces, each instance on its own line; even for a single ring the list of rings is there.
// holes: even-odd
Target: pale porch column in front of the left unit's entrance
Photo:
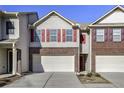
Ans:
[[[16,47],[15,47],[15,43],[13,43],[12,53],[13,53],[12,74],[15,75],[16,72],[17,72],[17,50],[16,50]]]

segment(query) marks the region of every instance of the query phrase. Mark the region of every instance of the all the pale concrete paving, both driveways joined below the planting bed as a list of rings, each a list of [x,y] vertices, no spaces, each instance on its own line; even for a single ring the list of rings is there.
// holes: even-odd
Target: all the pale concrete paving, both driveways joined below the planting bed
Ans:
[[[81,84],[75,73],[49,72],[24,76],[4,88],[122,88],[124,73],[100,73],[112,84]]]

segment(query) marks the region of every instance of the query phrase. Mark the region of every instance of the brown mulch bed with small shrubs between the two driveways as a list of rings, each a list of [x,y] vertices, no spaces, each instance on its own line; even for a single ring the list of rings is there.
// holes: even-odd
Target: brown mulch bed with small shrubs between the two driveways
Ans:
[[[104,79],[102,76],[87,76],[87,75],[77,75],[80,82],[82,84],[89,84],[89,83],[111,83],[110,81]]]

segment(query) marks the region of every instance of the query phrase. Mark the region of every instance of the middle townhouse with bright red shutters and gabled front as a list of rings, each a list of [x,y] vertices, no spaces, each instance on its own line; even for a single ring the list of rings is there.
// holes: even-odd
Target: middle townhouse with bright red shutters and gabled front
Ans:
[[[30,70],[78,72],[79,28],[55,11],[31,26]]]

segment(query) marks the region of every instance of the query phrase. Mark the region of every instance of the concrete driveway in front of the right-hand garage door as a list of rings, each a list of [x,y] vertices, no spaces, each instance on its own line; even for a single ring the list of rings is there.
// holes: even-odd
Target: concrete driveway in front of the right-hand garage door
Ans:
[[[113,83],[115,87],[124,88],[124,73],[121,72],[109,72],[100,73],[104,78]]]

